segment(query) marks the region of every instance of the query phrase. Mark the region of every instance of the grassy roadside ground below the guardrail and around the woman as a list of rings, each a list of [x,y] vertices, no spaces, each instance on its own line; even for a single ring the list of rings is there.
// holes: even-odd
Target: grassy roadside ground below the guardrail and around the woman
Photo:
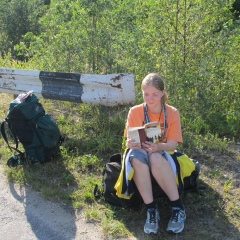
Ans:
[[[0,120],[3,121],[12,96],[2,94]],[[30,185],[46,199],[63,202],[84,211],[88,222],[99,223],[106,238],[137,239],[240,239],[240,156],[239,145],[207,134],[184,132],[185,144],[180,150],[200,162],[199,194],[182,195],[187,222],[182,234],[171,235],[165,228],[170,215],[166,199],[157,199],[161,225],[157,236],[143,233],[146,210],[111,206],[93,195],[95,184],[101,184],[102,168],[109,157],[121,151],[123,129],[128,107],[101,106],[47,101],[40,99],[52,115],[65,142],[61,155],[47,164],[6,167],[12,155],[0,138],[1,164],[9,181]]]

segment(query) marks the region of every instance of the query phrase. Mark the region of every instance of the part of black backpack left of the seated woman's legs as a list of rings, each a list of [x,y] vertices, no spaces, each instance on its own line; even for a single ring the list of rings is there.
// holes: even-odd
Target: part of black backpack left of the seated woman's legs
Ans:
[[[103,197],[108,203],[125,208],[140,209],[143,205],[143,200],[135,187],[133,196],[128,199],[119,198],[114,189],[115,183],[118,180],[121,172],[122,156],[120,153],[114,154],[110,157],[109,162],[104,165],[102,172],[102,185],[96,185],[94,189],[94,196],[96,199]]]

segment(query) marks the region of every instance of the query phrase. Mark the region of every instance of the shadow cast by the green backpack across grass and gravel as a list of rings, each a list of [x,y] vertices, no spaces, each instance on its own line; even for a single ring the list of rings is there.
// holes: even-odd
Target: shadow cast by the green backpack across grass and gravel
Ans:
[[[15,169],[14,169],[15,170]],[[53,174],[53,171],[55,172]],[[76,236],[76,215],[74,209],[66,204],[56,204],[42,199],[42,194],[32,191],[31,184],[34,182],[34,189],[39,186],[45,195],[56,195],[60,192],[59,186],[66,184],[64,176],[73,181],[71,173],[67,171],[62,160],[53,161],[44,165],[24,166],[23,174],[25,185],[9,184],[13,197],[25,207],[25,215],[31,226],[32,232],[39,240],[69,240]],[[50,176],[54,176],[51,177]],[[34,179],[34,181],[32,181]],[[46,181],[49,181],[46,184]],[[31,239],[31,237],[29,238]]]

